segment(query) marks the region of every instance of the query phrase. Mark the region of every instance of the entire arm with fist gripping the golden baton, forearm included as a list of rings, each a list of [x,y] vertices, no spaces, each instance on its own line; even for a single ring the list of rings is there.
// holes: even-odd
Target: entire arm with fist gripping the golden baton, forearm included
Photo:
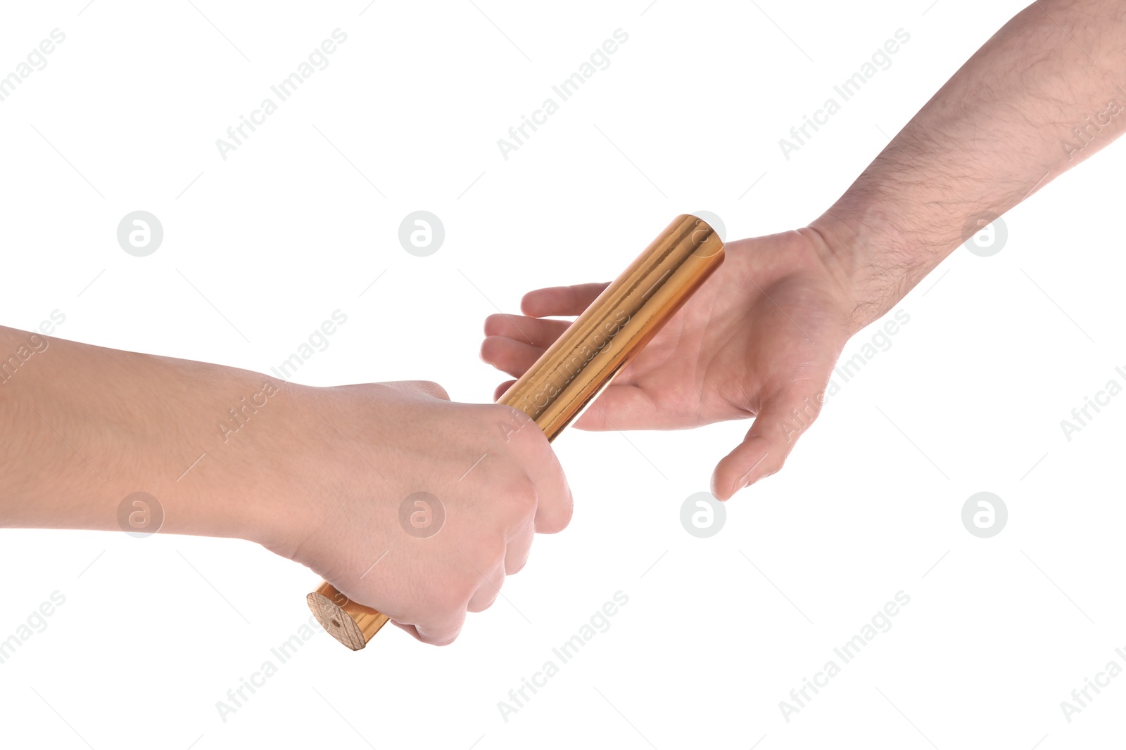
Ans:
[[[153,532],[258,542],[449,643],[533,534],[571,519],[535,423],[435,383],[311,388],[5,327],[0,347],[36,356],[0,388],[20,436],[0,445],[0,526],[125,530],[123,498],[143,489]]]

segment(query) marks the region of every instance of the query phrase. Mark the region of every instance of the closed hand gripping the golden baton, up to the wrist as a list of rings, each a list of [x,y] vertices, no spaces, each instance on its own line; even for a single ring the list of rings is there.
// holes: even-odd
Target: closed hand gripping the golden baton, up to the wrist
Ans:
[[[421,641],[450,643],[465,613],[489,607],[524,568],[533,534],[571,519],[563,470],[517,409],[453,404],[429,382],[305,389],[297,400],[301,444],[278,454],[292,467],[285,503],[300,509],[267,546]],[[403,519],[420,491],[437,499],[414,498],[423,505],[408,503]]]

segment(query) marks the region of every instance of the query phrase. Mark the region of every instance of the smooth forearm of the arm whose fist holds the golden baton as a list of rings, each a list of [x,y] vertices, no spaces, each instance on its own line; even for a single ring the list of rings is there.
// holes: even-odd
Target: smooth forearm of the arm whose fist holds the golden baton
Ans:
[[[117,530],[144,491],[163,533],[270,541],[300,386],[12,328],[0,358],[0,526]]]

